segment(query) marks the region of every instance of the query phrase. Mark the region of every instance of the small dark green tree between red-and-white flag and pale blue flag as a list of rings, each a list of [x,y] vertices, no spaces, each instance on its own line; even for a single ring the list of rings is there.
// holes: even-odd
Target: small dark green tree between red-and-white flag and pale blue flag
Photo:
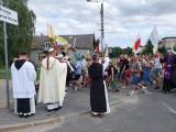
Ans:
[[[148,40],[147,42],[146,42],[146,44],[145,44],[145,47],[144,47],[144,50],[143,50],[143,52],[142,52],[142,54],[143,55],[153,55],[153,44],[152,44],[152,42],[151,42],[151,40]]]

